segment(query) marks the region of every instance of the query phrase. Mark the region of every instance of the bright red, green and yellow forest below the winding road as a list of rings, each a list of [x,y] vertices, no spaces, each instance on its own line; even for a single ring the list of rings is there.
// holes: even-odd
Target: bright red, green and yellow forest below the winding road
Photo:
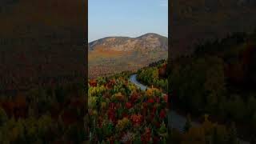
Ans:
[[[90,80],[90,143],[167,143],[168,96],[139,90],[130,74]]]

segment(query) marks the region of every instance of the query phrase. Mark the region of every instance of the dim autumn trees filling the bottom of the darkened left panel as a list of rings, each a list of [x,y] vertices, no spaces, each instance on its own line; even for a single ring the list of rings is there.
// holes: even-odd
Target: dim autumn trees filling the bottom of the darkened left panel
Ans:
[[[0,99],[1,143],[82,143],[84,85],[49,86]]]

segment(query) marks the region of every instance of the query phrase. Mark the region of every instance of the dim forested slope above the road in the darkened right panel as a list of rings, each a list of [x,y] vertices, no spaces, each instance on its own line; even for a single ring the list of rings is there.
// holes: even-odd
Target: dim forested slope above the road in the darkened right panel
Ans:
[[[256,33],[236,33],[197,46],[170,63],[172,106],[236,122],[239,134],[256,134]]]

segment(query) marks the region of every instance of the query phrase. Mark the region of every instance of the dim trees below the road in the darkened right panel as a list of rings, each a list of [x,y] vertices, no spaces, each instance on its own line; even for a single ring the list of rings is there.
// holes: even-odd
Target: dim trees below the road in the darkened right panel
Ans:
[[[210,122],[208,115],[205,115],[204,122],[201,126],[192,126],[188,116],[184,133],[172,130],[170,142],[176,144],[239,144],[241,140],[237,138],[237,130],[234,123],[229,127]]]

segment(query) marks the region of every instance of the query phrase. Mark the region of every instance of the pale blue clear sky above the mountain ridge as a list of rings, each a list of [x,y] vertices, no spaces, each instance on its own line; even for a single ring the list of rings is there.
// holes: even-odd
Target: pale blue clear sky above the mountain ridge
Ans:
[[[88,40],[168,35],[168,0],[89,0]]]

